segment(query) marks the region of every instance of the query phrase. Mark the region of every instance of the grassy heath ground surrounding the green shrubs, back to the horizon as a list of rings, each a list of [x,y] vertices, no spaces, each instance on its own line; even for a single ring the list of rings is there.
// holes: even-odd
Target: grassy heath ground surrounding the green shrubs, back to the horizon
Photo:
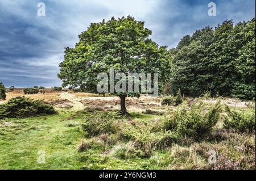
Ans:
[[[8,92],[7,100],[19,95],[22,91]],[[116,112],[118,98],[71,92],[26,96],[51,102],[58,113],[0,120],[0,169],[255,169],[255,132],[225,130],[224,115],[205,137],[179,137],[165,140],[160,148],[151,144],[150,148],[138,149],[136,139],[147,142],[161,137],[162,132],[149,128],[158,128],[163,113],[177,107],[161,106],[161,98],[129,98],[126,104],[131,116],[113,118],[117,131],[88,136],[82,125],[92,116]],[[217,102],[217,98],[197,99],[207,105]],[[195,100],[186,98],[181,106],[189,107],[189,102]],[[222,104],[255,111],[255,102],[223,98]],[[135,138],[124,138],[125,133]],[[38,163],[42,153],[46,155],[45,163]],[[216,162],[211,164],[209,159],[214,155]]]

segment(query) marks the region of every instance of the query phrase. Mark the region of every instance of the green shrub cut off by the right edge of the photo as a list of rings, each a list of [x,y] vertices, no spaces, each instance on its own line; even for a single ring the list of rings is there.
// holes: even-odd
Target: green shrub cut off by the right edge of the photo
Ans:
[[[224,120],[226,129],[234,129],[238,132],[255,131],[255,112],[230,110],[228,106],[225,110],[227,112]]]

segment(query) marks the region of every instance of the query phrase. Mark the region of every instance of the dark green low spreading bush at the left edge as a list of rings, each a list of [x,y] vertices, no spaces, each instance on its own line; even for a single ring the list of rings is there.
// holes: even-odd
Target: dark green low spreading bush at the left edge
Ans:
[[[51,115],[53,113],[56,113],[54,108],[44,104],[42,100],[32,100],[24,96],[18,96],[5,104],[0,104],[0,119]]]

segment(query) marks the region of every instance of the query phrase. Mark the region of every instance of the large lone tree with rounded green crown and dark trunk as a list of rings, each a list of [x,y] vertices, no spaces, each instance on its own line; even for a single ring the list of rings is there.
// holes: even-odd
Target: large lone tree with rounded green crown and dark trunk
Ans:
[[[65,48],[64,61],[60,63],[59,78],[63,86],[79,87],[82,91],[97,92],[98,73],[108,73],[110,68],[123,73],[159,73],[167,80],[170,60],[166,47],[159,47],[148,36],[151,31],[144,22],[133,17],[112,18],[108,22],[91,23],[79,35],[75,48]],[[164,83],[163,83],[164,84]],[[115,93],[121,99],[121,112],[126,114],[127,96],[138,94]]]

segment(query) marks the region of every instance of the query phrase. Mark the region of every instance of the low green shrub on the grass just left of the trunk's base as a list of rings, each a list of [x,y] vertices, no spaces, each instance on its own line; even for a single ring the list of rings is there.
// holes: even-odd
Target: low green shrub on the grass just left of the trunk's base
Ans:
[[[82,124],[82,130],[88,136],[115,133],[114,119],[116,117],[117,114],[112,112],[94,113],[94,115],[86,117],[84,124]]]

